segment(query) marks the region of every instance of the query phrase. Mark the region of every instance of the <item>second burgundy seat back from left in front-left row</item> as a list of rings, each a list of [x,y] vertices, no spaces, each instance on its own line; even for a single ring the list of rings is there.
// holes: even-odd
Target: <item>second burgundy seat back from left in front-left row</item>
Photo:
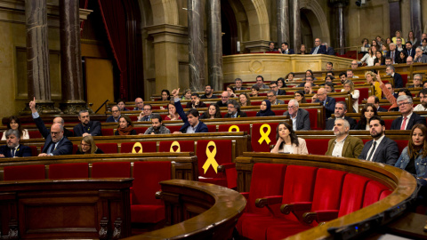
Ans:
[[[89,164],[50,164],[49,179],[87,179],[89,178]]]

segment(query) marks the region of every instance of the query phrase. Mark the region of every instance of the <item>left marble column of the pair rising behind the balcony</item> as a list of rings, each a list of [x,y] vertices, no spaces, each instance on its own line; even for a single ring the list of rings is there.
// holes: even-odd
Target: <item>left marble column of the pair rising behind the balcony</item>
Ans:
[[[289,0],[277,0],[278,8],[278,49],[282,43],[289,43]]]

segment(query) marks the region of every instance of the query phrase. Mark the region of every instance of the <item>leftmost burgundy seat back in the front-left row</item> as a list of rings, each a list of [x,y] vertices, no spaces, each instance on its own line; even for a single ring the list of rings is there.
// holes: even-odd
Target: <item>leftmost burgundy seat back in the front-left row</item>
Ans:
[[[44,180],[44,165],[5,166],[4,180]]]

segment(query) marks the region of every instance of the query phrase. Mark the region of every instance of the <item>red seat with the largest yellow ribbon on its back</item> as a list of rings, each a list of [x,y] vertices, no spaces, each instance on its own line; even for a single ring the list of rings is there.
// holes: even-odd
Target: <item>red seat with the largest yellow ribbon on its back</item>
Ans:
[[[212,146],[212,144],[215,145]],[[207,146],[210,146],[209,148]],[[238,173],[236,167],[231,167],[226,174],[217,172],[214,165],[209,164],[216,161],[218,165],[232,163],[232,145],[231,140],[197,140],[197,163],[199,181],[221,185],[227,188],[236,188],[238,185]],[[212,155],[212,156],[208,156]],[[207,169],[203,167],[206,166]],[[217,170],[217,169],[216,169]]]

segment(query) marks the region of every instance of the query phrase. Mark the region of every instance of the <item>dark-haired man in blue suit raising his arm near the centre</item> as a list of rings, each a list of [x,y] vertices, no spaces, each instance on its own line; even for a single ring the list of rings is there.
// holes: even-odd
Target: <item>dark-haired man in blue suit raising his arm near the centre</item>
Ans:
[[[182,108],[180,97],[178,93],[180,89],[173,89],[171,93],[173,95],[173,100],[175,101],[176,112],[181,116],[182,122],[184,123],[179,132],[173,133],[195,133],[195,132],[208,132],[206,124],[202,123],[198,120],[198,111],[196,108],[191,108],[187,112],[184,113],[184,109]],[[227,92],[228,94],[228,92]]]

